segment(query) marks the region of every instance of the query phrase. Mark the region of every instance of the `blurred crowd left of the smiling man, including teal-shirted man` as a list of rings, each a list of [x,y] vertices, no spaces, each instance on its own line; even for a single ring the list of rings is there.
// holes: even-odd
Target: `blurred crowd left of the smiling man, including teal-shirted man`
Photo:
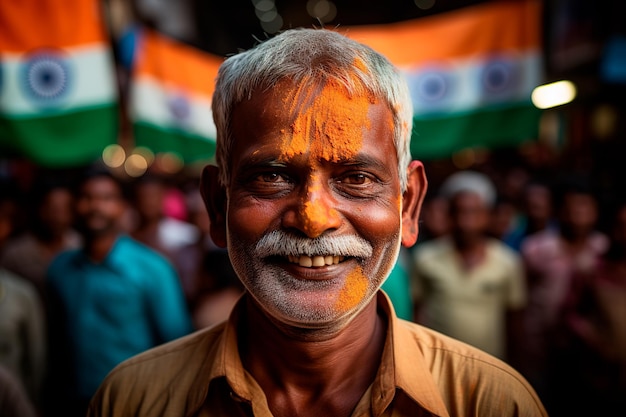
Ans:
[[[197,178],[90,171],[0,183],[0,415],[84,415],[113,366],[241,295]]]

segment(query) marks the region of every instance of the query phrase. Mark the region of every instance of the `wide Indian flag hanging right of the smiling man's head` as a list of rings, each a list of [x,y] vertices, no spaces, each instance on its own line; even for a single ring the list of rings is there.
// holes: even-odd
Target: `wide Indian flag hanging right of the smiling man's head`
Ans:
[[[406,75],[416,158],[536,139],[542,83],[541,4],[494,1],[381,26],[344,29]]]

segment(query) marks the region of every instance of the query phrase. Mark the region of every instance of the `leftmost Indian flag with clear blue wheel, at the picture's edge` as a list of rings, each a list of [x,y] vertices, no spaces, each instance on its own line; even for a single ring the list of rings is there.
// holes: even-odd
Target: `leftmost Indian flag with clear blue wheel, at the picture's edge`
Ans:
[[[89,163],[117,140],[117,83],[100,2],[0,2],[0,152]]]

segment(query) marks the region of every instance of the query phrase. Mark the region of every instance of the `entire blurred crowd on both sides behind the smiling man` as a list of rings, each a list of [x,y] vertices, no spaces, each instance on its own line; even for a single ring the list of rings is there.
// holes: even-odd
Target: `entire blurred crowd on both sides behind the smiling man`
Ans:
[[[626,198],[524,165],[426,168],[419,241],[383,286],[398,315],[509,362],[552,416],[623,410]],[[219,323],[243,291],[198,177],[57,174],[0,184],[0,403],[22,416],[79,394],[63,415],[81,415],[133,349]],[[125,246],[100,253],[113,224]],[[118,275],[127,288],[103,284]],[[141,336],[143,321],[159,337]]]

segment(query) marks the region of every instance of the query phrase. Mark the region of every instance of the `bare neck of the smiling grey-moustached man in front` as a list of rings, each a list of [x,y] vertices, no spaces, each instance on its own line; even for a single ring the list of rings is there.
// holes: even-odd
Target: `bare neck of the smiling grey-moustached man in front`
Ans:
[[[376,299],[332,335],[286,332],[254,301],[247,308],[242,361],[266,393],[272,413],[308,409],[317,415],[349,415],[373,382],[382,356],[386,323]]]

